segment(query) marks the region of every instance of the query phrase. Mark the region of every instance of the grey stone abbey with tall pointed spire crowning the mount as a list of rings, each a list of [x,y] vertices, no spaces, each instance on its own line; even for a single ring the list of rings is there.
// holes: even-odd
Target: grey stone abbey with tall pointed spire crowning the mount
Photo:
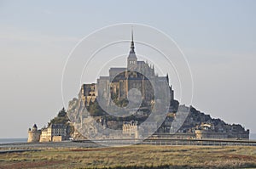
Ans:
[[[167,86],[167,87],[166,87]],[[138,61],[131,32],[131,50],[127,57],[127,66],[123,68],[110,68],[109,76],[100,76],[96,83],[84,84],[81,95],[85,105],[103,99],[105,104],[111,104],[111,100],[125,100],[132,88],[141,93],[143,105],[152,103],[155,93],[165,99],[166,93],[170,99],[174,99],[172,86],[169,85],[169,77],[157,76],[154,65],[148,65],[144,61]]]

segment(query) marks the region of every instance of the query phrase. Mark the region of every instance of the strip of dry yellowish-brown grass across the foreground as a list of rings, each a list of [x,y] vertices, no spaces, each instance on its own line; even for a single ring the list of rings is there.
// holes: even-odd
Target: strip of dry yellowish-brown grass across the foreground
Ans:
[[[256,167],[256,147],[155,146],[42,149],[0,155],[0,168]]]

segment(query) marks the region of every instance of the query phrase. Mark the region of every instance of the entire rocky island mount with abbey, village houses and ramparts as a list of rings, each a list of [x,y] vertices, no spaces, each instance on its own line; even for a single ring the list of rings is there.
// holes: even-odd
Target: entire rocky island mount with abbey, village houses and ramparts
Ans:
[[[29,129],[28,142],[90,137],[249,138],[249,130],[240,124],[227,124],[193,106],[180,104],[174,98],[169,79],[172,77],[158,76],[154,65],[139,60],[135,45],[131,32],[127,66],[111,67],[109,76],[99,76],[96,83],[83,84],[79,98],[69,102],[67,112],[61,110],[48,127],[39,130],[34,125]]]

